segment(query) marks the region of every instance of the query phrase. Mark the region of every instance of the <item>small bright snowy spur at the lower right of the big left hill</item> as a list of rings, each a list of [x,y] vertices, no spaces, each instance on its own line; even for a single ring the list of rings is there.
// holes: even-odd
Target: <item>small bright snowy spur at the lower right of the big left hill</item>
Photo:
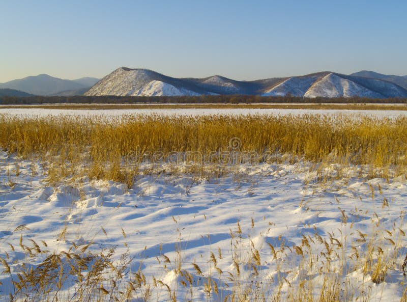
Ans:
[[[187,89],[178,89],[170,84],[164,83],[162,81],[153,80],[143,88],[138,91],[128,94],[132,96],[181,96],[181,95],[199,95],[196,92]]]

